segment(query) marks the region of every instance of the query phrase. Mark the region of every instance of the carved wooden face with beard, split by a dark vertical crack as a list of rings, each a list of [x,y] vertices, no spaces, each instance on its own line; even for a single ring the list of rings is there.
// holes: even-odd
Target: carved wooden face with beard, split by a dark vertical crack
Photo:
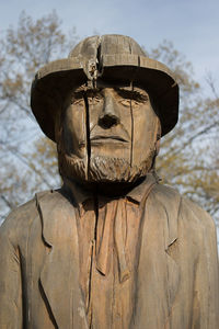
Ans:
[[[83,179],[132,181],[151,168],[160,123],[145,90],[99,82],[74,90],[65,107],[61,158],[83,163]]]

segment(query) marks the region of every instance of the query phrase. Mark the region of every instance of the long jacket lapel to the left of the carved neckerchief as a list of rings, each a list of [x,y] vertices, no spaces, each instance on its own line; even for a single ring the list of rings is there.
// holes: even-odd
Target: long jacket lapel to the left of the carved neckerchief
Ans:
[[[37,195],[43,239],[48,247],[41,284],[59,329],[88,328],[79,286],[74,207],[59,192]]]

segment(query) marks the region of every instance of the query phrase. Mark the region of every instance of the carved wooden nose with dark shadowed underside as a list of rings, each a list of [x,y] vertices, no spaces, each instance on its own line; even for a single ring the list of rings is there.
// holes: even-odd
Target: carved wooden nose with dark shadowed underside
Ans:
[[[104,94],[104,104],[99,117],[99,125],[103,128],[111,128],[120,122],[118,109],[114,95],[111,93]]]

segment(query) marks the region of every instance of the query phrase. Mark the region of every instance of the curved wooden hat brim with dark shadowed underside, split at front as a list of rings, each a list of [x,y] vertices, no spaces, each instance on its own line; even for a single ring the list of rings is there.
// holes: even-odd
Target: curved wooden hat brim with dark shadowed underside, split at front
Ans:
[[[43,67],[32,83],[32,111],[42,131],[54,141],[56,114],[61,111],[60,100],[88,81],[83,67],[84,63],[78,58],[59,59]],[[102,67],[101,79],[132,81],[152,95],[158,105],[162,136],[175,126],[178,118],[178,86],[168,67],[148,57],[130,54],[104,55]]]

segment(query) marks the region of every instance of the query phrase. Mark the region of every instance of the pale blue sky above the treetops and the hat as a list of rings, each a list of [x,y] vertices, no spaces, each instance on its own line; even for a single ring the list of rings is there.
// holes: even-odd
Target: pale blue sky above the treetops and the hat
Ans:
[[[208,89],[210,72],[219,90],[218,0],[0,0],[0,33],[16,26],[22,10],[34,19],[56,10],[64,31],[77,34],[124,34],[146,49],[163,39],[192,61],[194,78]]]

